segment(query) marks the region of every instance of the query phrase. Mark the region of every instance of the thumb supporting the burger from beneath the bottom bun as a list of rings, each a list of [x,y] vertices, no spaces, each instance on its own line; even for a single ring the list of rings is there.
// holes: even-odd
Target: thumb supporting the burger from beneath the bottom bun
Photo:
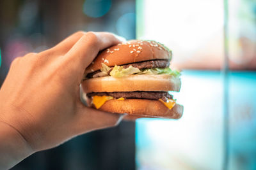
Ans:
[[[86,106],[78,108],[76,115],[70,124],[70,129],[74,135],[95,131],[118,125],[124,115],[118,113],[108,113]]]

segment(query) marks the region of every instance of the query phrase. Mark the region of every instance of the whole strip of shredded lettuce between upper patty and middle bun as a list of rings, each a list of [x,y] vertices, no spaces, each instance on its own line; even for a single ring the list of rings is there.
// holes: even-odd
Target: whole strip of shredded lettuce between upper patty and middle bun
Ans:
[[[169,67],[167,68],[152,68],[152,69],[138,69],[136,67],[129,66],[128,68],[124,68],[123,66],[115,66],[112,71],[111,68],[106,66],[106,64],[102,63],[102,67],[100,69],[100,73],[97,76],[110,76],[113,77],[123,77],[129,76],[131,74],[168,74],[175,77],[180,76],[180,72],[177,70],[172,70]],[[110,73],[109,73],[110,71]]]

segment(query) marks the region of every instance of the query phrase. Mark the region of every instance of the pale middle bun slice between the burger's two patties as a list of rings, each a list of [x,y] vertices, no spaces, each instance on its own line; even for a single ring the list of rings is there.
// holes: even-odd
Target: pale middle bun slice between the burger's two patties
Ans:
[[[82,87],[85,93],[133,91],[179,92],[180,79],[167,74],[134,74],[122,78],[104,76],[84,80]]]

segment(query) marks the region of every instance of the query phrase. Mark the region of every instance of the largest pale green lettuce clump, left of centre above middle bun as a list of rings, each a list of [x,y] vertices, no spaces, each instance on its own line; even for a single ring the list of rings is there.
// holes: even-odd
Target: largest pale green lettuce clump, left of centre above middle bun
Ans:
[[[123,66],[115,66],[113,70],[109,73],[113,77],[123,77],[129,76],[131,74],[140,73],[140,69],[136,67],[129,66],[128,68],[124,69]]]

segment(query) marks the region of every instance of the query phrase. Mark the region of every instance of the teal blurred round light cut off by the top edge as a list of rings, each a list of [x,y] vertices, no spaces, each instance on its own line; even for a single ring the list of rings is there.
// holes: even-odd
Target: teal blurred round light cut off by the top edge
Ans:
[[[83,11],[89,17],[98,18],[108,13],[110,7],[111,0],[86,0]]]

